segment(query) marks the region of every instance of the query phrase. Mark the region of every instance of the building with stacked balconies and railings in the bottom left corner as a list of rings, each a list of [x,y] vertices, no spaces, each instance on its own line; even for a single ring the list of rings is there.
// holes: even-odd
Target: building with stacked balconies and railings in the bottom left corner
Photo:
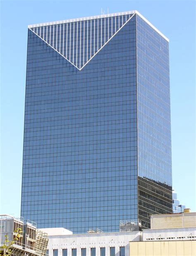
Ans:
[[[13,244],[9,248],[2,248],[10,242]],[[36,228],[35,222],[24,222],[22,217],[8,214],[0,215],[0,255],[11,250],[12,256],[45,256],[47,246],[48,236]]]

